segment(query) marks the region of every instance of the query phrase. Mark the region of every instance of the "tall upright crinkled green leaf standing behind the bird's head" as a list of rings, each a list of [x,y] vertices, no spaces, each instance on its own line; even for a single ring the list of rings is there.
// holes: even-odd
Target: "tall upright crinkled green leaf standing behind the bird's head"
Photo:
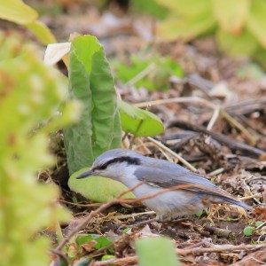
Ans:
[[[121,142],[113,76],[104,49],[94,36],[79,36],[72,43],[69,95],[84,106],[81,120],[64,131],[68,168],[73,174]]]

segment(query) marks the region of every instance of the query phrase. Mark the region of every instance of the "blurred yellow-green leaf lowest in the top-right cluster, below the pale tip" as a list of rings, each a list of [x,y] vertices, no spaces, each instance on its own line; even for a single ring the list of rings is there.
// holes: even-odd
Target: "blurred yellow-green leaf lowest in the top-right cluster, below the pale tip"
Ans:
[[[218,30],[216,34],[220,48],[231,56],[250,56],[258,48],[258,43],[248,30],[244,30],[241,35],[231,35],[231,33]]]

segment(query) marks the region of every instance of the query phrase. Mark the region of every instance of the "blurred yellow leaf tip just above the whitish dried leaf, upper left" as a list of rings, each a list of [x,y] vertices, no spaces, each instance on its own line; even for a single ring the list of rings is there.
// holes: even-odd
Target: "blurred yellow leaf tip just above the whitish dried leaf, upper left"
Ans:
[[[52,35],[49,27],[46,27],[43,22],[36,20],[35,22],[25,24],[31,32],[43,43],[56,43],[57,40],[54,35]]]

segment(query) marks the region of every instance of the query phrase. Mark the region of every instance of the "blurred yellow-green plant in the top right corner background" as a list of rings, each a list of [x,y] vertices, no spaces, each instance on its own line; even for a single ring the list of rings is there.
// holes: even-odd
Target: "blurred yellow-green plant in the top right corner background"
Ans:
[[[156,0],[170,15],[158,28],[159,35],[190,41],[214,33],[230,55],[255,55],[266,48],[264,0]]]

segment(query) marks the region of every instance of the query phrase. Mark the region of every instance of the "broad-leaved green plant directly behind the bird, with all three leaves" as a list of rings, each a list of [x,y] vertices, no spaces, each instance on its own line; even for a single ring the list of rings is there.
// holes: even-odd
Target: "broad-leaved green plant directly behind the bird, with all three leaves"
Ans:
[[[121,145],[121,128],[135,136],[154,136],[163,132],[163,125],[153,113],[117,100],[104,48],[91,35],[78,36],[71,44],[69,97],[82,102],[83,112],[80,121],[64,130],[68,185],[90,200],[111,200],[127,188],[106,178],[75,177],[99,154]]]

